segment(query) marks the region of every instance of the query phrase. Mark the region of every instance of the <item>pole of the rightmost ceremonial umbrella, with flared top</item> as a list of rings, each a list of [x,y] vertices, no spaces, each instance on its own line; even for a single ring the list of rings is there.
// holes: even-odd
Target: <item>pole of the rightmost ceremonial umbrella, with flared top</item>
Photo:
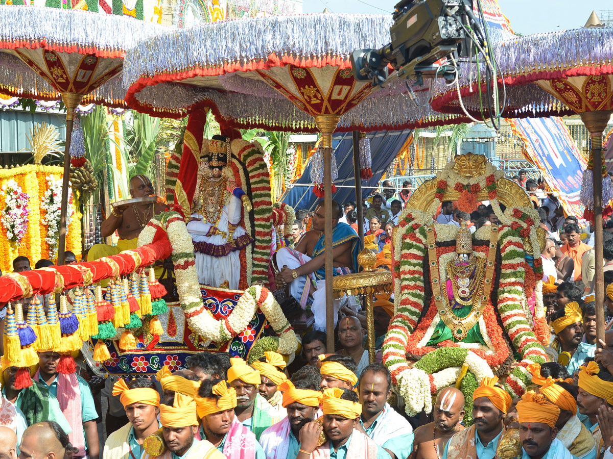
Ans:
[[[592,138],[594,158],[594,258],[595,258],[595,296],[596,296],[596,344],[604,341],[604,265],[603,265],[603,177],[601,171],[603,157],[603,131],[611,118],[611,111],[586,111],[581,119]],[[609,178],[606,177],[608,180]]]

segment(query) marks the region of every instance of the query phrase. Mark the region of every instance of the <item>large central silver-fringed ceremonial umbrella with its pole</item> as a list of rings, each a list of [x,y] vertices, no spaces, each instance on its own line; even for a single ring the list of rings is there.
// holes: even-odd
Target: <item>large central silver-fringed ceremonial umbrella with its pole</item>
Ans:
[[[206,24],[143,40],[126,54],[126,101],[153,116],[179,118],[199,106],[233,127],[322,133],[325,245],[332,247],[332,133],[445,124],[459,116],[417,107],[404,82],[371,94],[354,80],[349,56],[390,40],[390,16],[288,15]],[[332,250],[326,278],[332,279]],[[326,285],[333,348],[332,282]]]

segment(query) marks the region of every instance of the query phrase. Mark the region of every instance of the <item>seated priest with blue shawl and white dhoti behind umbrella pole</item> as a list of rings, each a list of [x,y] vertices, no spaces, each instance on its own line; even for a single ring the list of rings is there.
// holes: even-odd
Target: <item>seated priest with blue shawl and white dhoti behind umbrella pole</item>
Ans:
[[[332,201],[332,215],[326,215],[324,201],[315,207],[311,230],[302,236],[294,248],[283,247],[276,253],[276,265],[280,271],[275,277],[277,286],[289,285],[289,293],[302,308],[311,304],[315,316],[316,330],[326,330],[326,247],[324,228],[326,218],[332,218],[332,255],[334,275],[355,272],[359,237],[347,223],[338,222],[343,210],[337,201]],[[338,310],[348,301],[348,297],[334,301],[335,323]]]

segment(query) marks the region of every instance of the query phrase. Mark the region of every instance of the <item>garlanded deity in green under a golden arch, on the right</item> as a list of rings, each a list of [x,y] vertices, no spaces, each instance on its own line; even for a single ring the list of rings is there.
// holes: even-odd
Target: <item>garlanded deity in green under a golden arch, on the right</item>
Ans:
[[[489,201],[500,225],[474,234],[440,225],[433,215],[446,200],[468,213]],[[525,191],[483,155],[459,155],[409,198],[394,234],[395,316],[383,345],[409,414],[432,411],[432,395],[461,381],[470,422],[482,378],[498,376],[518,397],[526,367],[546,362],[538,222]]]

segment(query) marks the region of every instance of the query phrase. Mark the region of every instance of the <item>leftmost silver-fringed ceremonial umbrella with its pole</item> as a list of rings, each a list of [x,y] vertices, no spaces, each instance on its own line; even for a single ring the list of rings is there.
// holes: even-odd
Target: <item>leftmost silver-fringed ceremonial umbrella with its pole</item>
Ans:
[[[64,262],[74,110],[83,96],[105,83],[110,85],[119,75],[127,48],[139,39],[164,30],[166,28],[157,24],[82,10],[0,6],[0,61],[4,64],[1,65],[0,91],[47,100],[57,99],[59,94],[66,105],[58,264]],[[27,72],[20,61],[27,66]],[[111,102],[110,105],[121,106],[120,99],[121,89],[115,83],[88,102]]]

